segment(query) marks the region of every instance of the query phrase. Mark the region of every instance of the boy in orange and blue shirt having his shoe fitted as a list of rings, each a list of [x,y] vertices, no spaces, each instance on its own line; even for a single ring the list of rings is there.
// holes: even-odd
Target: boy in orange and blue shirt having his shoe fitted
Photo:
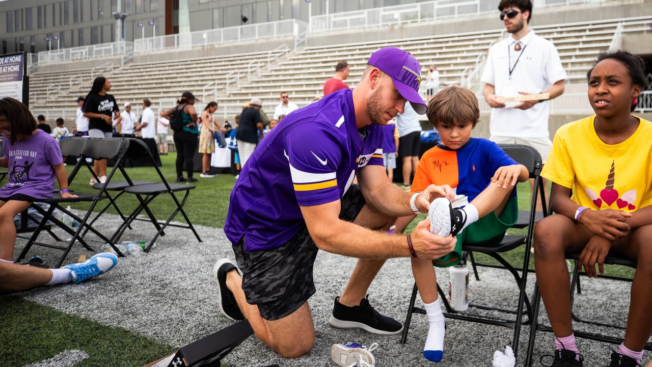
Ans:
[[[428,120],[437,129],[441,143],[422,155],[411,186],[416,193],[431,183],[450,185],[456,194],[456,208],[448,199],[440,198],[430,204],[428,212],[430,232],[456,236],[455,251],[434,261],[412,259],[412,272],[430,323],[423,355],[433,362],[443,357],[445,328],[432,265],[460,263],[463,243],[502,240],[518,219],[516,182],[529,178],[527,168],[496,143],[471,138],[479,117],[477,97],[469,89],[452,86],[430,100]],[[397,219],[396,231],[403,231],[413,218]]]

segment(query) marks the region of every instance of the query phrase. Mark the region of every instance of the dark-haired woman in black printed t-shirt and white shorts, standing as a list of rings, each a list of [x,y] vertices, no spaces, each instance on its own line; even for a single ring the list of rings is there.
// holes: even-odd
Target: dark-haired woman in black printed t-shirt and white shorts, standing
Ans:
[[[83,116],[88,121],[88,136],[91,138],[110,138],[113,134],[111,115],[120,116],[120,109],[113,95],[106,92],[111,90],[111,82],[103,76],[98,76],[93,80],[93,87],[84,99],[82,110]],[[95,161],[93,171],[100,179],[100,182],[106,181],[106,159]],[[91,185],[96,182],[91,178]]]

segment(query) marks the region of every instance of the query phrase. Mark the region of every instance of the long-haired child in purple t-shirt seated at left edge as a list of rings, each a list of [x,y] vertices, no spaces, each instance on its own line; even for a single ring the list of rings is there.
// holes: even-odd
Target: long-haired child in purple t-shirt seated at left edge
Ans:
[[[14,217],[36,199],[52,198],[54,178],[61,197],[68,193],[68,177],[57,140],[37,129],[37,121],[20,101],[0,99],[0,134],[4,156],[0,167],[8,168],[8,182],[0,187],[0,261],[12,261],[16,242]]]

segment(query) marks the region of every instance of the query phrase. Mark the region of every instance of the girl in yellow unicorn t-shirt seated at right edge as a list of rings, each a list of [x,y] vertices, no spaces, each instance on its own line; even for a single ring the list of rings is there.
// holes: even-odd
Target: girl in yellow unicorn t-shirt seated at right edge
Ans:
[[[564,253],[580,252],[589,278],[612,252],[638,260],[625,342],[610,366],[639,366],[652,333],[652,123],[630,114],[647,86],[644,61],[603,53],[588,72],[595,115],[562,126],[541,176],[552,182],[556,214],[535,227],[535,268],[555,335],[554,362],[582,366],[571,321]],[[572,191],[572,196],[571,196]],[[591,363],[593,364],[593,363]]]

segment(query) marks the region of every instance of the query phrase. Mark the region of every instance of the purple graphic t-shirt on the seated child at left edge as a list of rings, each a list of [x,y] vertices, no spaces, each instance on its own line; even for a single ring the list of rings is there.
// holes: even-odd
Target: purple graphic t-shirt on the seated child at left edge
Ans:
[[[55,180],[52,166],[63,163],[57,140],[37,130],[29,138],[13,144],[5,138],[3,143],[9,174],[7,184],[0,187],[0,197],[23,194],[37,199],[52,198]]]

